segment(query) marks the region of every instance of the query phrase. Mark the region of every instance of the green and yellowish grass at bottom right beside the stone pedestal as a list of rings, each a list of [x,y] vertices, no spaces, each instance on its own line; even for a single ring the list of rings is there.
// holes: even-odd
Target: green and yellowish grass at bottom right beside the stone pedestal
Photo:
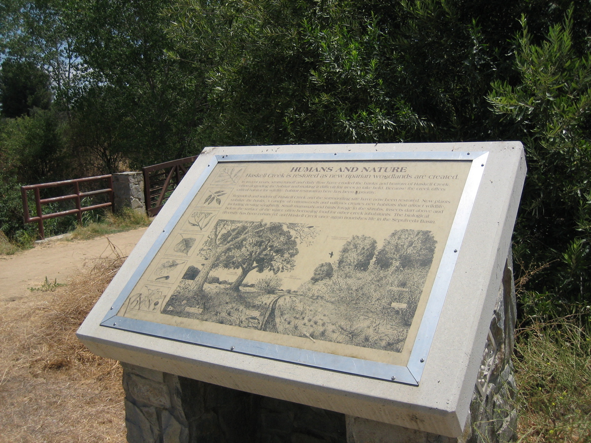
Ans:
[[[519,442],[591,441],[591,340],[573,315],[518,330]]]

